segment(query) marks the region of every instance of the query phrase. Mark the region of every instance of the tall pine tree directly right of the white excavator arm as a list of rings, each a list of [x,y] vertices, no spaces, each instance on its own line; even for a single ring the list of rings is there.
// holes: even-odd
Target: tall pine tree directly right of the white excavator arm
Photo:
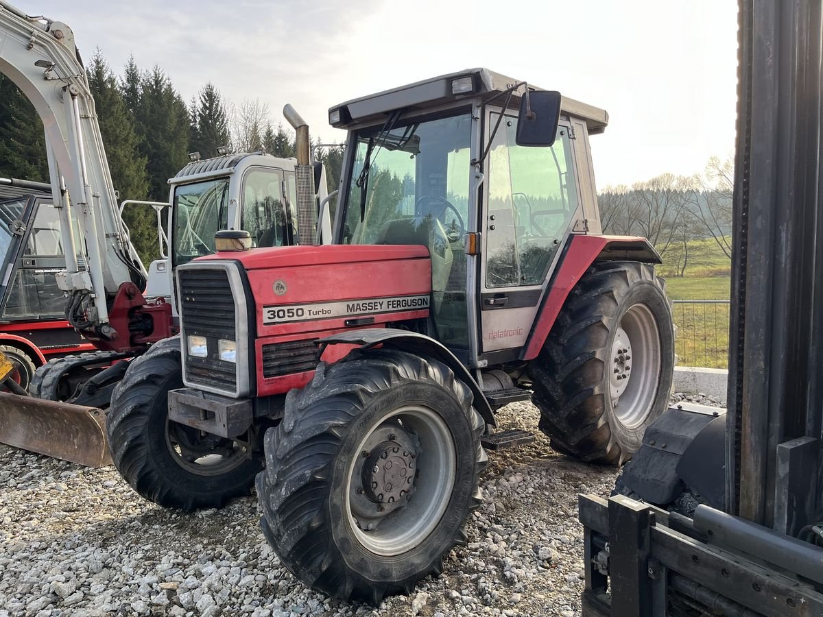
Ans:
[[[146,199],[146,157],[139,154],[133,115],[100,49],[91,58],[88,76],[114,188],[119,191],[121,201]],[[143,262],[147,264],[159,257],[155,212],[146,206],[127,206],[123,220]]]

